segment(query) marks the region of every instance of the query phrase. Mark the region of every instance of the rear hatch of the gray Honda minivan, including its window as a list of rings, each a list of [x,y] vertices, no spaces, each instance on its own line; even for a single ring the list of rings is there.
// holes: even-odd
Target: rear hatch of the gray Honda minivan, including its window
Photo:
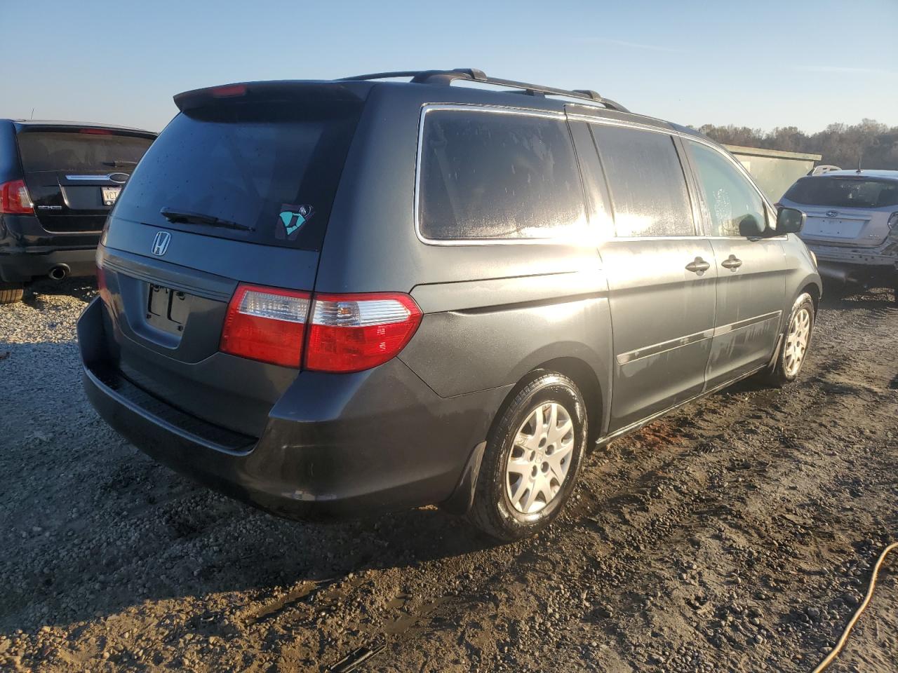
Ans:
[[[182,111],[128,181],[100,250],[122,376],[259,436],[297,370],[220,352],[228,302],[241,283],[313,290],[367,89],[258,83],[175,97]]]

